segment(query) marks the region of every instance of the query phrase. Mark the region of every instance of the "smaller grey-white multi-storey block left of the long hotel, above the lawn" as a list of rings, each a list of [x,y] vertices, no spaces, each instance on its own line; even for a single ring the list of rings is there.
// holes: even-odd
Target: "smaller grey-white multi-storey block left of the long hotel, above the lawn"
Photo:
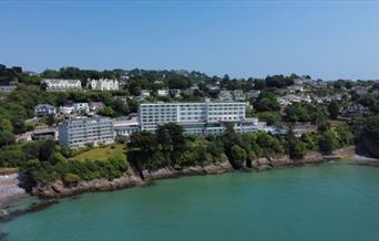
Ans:
[[[110,118],[71,118],[59,125],[59,143],[71,148],[114,143],[113,122]]]

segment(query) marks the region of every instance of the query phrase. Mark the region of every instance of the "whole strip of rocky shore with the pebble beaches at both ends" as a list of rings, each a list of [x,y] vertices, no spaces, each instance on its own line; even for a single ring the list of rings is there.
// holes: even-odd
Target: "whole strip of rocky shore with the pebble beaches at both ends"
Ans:
[[[361,157],[360,160],[356,160],[357,155],[355,154],[355,147],[350,146],[342,149],[337,149],[330,156],[322,156],[319,153],[309,153],[303,159],[294,160],[289,159],[288,156],[281,156],[276,158],[259,158],[252,161],[250,168],[243,168],[239,171],[262,171],[262,170],[275,170],[287,167],[297,167],[304,165],[320,165],[329,161],[348,161],[358,165],[379,166],[379,159]],[[369,161],[366,161],[369,159]],[[376,165],[372,165],[372,161]],[[29,192],[23,190],[23,193],[12,196],[9,201],[1,203],[0,210],[0,222],[9,221],[16,217],[35,212],[50,207],[51,205],[59,203],[61,198],[75,197],[85,192],[98,192],[98,191],[113,191],[117,189],[143,187],[152,185],[155,180],[178,178],[185,176],[204,176],[204,175],[218,175],[225,172],[233,172],[235,169],[232,167],[229,161],[216,163],[206,166],[194,166],[185,167],[183,169],[174,168],[161,168],[157,170],[143,170],[142,179],[134,171],[129,171],[124,176],[107,180],[107,179],[94,179],[91,181],[79,181],[78,184],[65,186],[61,180],[51,184],[39,184],[32,188]],[[13,182],[14,185],[16,182]],[[41,199],[40,203],[33,203],[25,210],[19,210],[16,212],[7,212],[7,206],[16,201],[21,197],[37,196]],[[0,200],[2,201],[2,200]]]

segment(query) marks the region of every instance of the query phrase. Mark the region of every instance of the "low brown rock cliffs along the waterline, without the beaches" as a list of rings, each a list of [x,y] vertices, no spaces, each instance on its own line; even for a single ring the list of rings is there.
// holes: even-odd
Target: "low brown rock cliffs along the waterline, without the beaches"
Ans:
[[[330,160],[354,159],[354,157],[355,148],[348,147],[336,150],[331,156],[322,156],[318,153],[310,153],[306,155],[305,158],[299,160],[289,159],[288,156],[259,158],[252,160],[252,168],[245,167],[244,170],[269,170],[308,164],[317,165]],[[143,170],[141,176],[136,175],[135,171],[129,171],[124,176],[114,180],[101,178],[91,181],[79,181],[71,185],[64,185],[61,180],[52,184],[38,184],[32,188],[31,195],[39,196],[44,199],[60,199],[83,192],[111,191],[123,188],[146,186],[158,179],[177,178],[183,176],[216,175],[231,171],[234,171],[234,169],[229,161],[216,163],[206,166],[185,167],[182,169],[161,168],[157,170]]]

